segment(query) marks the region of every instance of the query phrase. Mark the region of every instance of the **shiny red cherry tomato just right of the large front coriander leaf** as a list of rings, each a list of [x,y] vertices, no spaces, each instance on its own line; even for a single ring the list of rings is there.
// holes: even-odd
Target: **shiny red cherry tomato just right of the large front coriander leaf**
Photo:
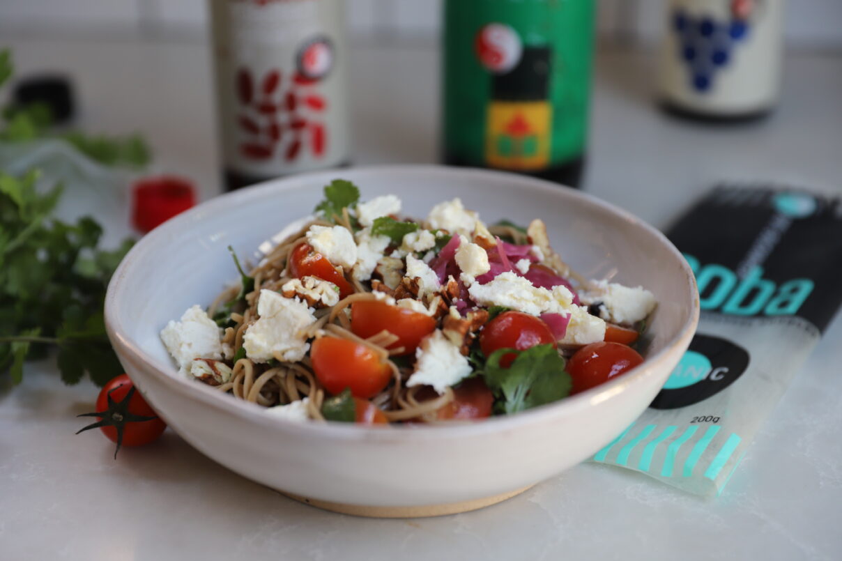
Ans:
[[[573,379],[570,393],[584,392],[599,386],[610,378],[631,370],[643,361],[643,357],[628,345],[611,341],[600,341],[585,345],[570,357],[568,371]]]

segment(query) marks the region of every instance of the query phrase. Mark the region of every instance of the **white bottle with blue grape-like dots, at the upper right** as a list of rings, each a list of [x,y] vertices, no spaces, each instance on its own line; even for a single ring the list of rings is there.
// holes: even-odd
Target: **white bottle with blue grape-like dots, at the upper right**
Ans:
[[[712,119],[764,115],[781,83],[784,0],[669,0],[660,93]]]

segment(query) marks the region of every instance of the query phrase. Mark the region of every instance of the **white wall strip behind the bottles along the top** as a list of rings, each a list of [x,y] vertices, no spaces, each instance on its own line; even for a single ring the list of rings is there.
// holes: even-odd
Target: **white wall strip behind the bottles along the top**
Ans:
[[[666,0],[597,0],[603,40],[653,43]],[[726,0],[721,0],[726,1]],[[768,0],[767,0],[768,1]],[[152,34],[201,40],[207,0],[0,0],[4,34]],[[432,41],[442,0],[344,0],[356,40]],[[842,0],[788,0],[790,45],[842,49]]]

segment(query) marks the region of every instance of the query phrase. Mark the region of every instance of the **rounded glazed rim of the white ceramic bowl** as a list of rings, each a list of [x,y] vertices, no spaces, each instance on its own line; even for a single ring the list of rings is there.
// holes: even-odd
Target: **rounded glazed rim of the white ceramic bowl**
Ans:
[[[285,190],[297,190],[301,188],[301,184],[316,183],[330,181],[336,179],[338,175],[352,175],[352,180],[360,181],[357,176],[362,175],[381,175],[381,174],[422,174],[431,176],[431,179],[452,179],[454,175],[461,176],[462,179],[508,179],[512,182],[512,187],[517,187],[518,184],[526,185],[530,189],[549,192],[552,194],[563,193],[577,200],[584,206],[591,206],[607,211],[613,214],[618,219],[629,222],[637,227],[646,230],[654,238],[658,239],[663,245],[674,254],[678,260],[680,267],[685,273],[685,280],[687,286],[685,289],[690,292],[690,302],[693,306],[690,316],[687,318],[681,328],[667,341],[663,349],[658,350],[657,353],[647,356],[641,365],[626,372],[622,377],[617,377],[593,387],[582,393],[578,393],[568,398],[564,398],[555,403],[547,403],[535,409],[527,409],[514,415],[493,416],[481,421],[454,421],[443,425],[387,425],[389,430],[384,430],[384,427],[370,427],[360,426],[349,423],[339,422],[325,422],[325,423],[301,423],[290,419],[283,419],[267,415],[264,413],[263,407],[256,403],[248,403],[241,399],[233,399],[229,396],[218,392],[216,389],[205,386],[204,384],[195,384],[187,378],[173,376],[168,374],[169,370],[173,370],[174,366],[167,361],[158,360],[141,349],[139,345],[133,342],[126,334],[125,330],[121,328],[123,319],[121,318],[121,303],[120,297],[121,288],[125,283],[125,277],[131,270],[133,263],[151,251],[158,243],[165,240],[171,240],[174,235],[179,233],[184,226],[189,222],[200,220],[204,216],[214,216],[218,211],[222,211],[231,206],[238,206],[248,204],[252,200],[263,198],[269,192],[277,193]],[[364,179],[362,179],[364,180]],[[133,248],[125,255],[120,265],[115,270],[112,276],[108,290],[105,296],[105,326],[111,340],[112,345],[116,350],[120,350],[120,354],[125,354],[129,361],[140,363],[145,370],[154,372],[154,375],[163,383],[164,386],[172,392],[179,393],[183,398],[196,399],[202,402],[206,407],[215,410],[221,410],[225,414],[232,414],[238,417],[248,419],[260,424],[271,424],[281,432],[300,433],[304,435],[313,436],[328,436],[339,440],[393,440],[395,438],[406,439],[460,439],[465,436],[482,435],[489,432],[503,432],[506,430],[514,430],[523,425],[536,425],[544,422],[552,421],[553,419],[561,419],[568,415],[575,415],[580,409],[586,409],[601,403],[610,398],[624,393],[628,387],[637,383],[638,379],[652,375],[653,366],[657,366],[659,362],[669,360],[669,355],[676,348],[684,347],[690,344],[690,339],[695,333],[695,328],[699,322],[699,297],[695,285],[695,276],[690,265],[686,262],[679,250],[675,248],[673,243],[666,238],[662,232],[652,227],[647,222],[642,221],[632,213],[614,206],[604,200],[600,200],[593,195],[589,195],[579,190],[565,188],[563,185],[552,183],[544,179],[536,179],[530,176],[514,174],[509,172],[502,172],[497,170],[488,170],[480,168],[453,168],[435,164],[397,164],[397,165],[376,165],[376,166],[359,166],[354,168],[331,168],[328,170],[320,170],[316,172],[309,172],[306,174],[295,174],[279,179],[269,179],[258,184],[246,187],[241,190],[232,191],[222,195],[218,195],[213,199],[206,200],[200,205],[184,211],[179,216],[173,217],[171,220],[164,222],[161,226],[147,233],[141,238]],[[142,382],[138,385],[143,391]],[[145,392],[144,392],[145,393]],[[154,406],[154,403],[152,403]]]

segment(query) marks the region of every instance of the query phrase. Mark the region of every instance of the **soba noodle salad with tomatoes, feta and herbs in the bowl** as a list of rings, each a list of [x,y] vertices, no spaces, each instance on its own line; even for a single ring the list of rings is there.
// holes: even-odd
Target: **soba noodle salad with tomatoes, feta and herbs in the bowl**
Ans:
[[[546,227],[424,220],[336,179],[312,220],[161,339],[179,374],[286,419],[364,425],[513,414],[642,362],[653,294],[589,280]],[[229,248],[231,249],[231,248]]]

